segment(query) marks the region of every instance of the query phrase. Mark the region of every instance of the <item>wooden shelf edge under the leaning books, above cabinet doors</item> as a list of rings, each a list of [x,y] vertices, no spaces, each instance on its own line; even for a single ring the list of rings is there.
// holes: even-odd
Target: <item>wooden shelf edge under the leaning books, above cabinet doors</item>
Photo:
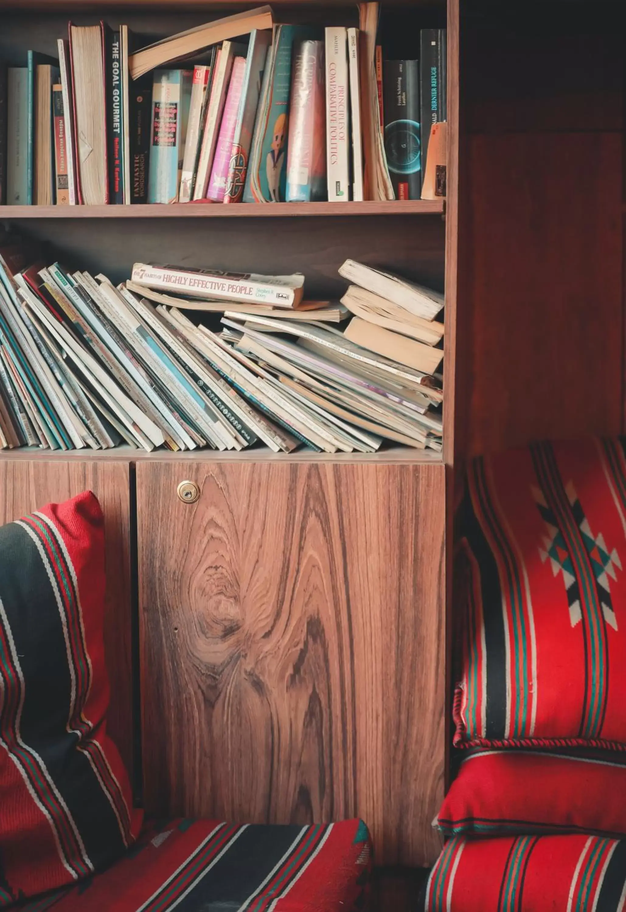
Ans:
[[[19,450],[0,451],[0,461],[78,461],[78,462],[408,462],[415,464],[443,464],[442,454],[433,450],[412,450],[409,447],[390,447],[378,453],[316,453],[311,451],[275,453],[266,449],[242,452],[217,452],[193,450],[172,453],[168,450],[146,452],[129,446],[112,450],[40,450],[21,447]]]

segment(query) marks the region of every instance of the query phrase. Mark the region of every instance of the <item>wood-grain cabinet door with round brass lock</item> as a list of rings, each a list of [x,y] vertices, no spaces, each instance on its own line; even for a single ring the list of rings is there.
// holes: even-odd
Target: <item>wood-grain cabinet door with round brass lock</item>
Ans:
[[[425,865],[443,793],[443,465],[137,465],[144,800],[360,815]],[[200,488],[182,503],[179,482]]]

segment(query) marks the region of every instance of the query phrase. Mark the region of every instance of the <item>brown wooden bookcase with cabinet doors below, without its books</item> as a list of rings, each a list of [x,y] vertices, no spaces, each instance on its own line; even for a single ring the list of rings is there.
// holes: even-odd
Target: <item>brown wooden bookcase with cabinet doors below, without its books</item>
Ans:
[[[252,5],[261,3],[0,0],[0,58],[21,66],[30,48],[56,56],[69,18],[156,38]],[[336,299],[350,257],[445,286],[444,452],[25,448],[0,453],[0,515],[85,487],[123,507],[117,525],[105,521],[122,553],[116,611],[135,625],[147,813],[257,823],[362,815],[378,865],[417,867],[440,850],[431,822],[446,765],[459,0],[381,5],[402,47],[447,18],[445,201],[2,206],[0,222],[115,283],[135,261],[210,265],[302,272],[308,296]],[[351,0],[277,0],[276,19],[356,26],[358,11]],[[197,483],[197,503],[177,497],[183,480]],[[112,689],[127,709],[128,630],[122,640]],[[116,733],[131,745],[130,716]]]

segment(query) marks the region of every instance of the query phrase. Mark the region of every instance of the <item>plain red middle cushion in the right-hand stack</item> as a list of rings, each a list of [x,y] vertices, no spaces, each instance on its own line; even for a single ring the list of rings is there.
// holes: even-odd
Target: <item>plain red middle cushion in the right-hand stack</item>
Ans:
[[[626,753],[478,749],[443,799],[445,835],[626,835]]]

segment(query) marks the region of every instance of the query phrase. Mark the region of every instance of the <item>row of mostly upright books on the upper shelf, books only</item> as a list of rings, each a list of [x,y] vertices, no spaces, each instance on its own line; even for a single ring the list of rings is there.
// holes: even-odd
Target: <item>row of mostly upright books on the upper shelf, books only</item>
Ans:
[[[0,70],[0,202],[419,199],[445,30],[383,60],[377,27],[377,3],[360,28],[276,25],[265,6],[133,53],[128,26],[70,23],[58,59]]]

